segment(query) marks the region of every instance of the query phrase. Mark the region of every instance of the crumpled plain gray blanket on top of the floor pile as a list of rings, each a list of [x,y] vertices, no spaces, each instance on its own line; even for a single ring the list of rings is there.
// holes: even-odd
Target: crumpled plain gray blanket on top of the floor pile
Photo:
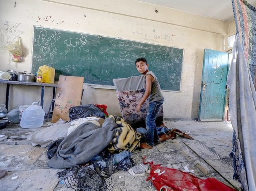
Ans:
[[[64,138],[48,166],[64,169],[87,163],[108,146],[117,127],[113,118],[106,118],[102,127],[90,122],[81,124]]]

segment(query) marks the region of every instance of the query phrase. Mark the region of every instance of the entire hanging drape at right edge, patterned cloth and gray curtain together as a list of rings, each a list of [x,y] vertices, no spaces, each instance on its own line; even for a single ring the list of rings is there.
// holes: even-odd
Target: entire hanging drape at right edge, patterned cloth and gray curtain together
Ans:
[[[236,24],[233,59],[227,78],[234,128],[234,179],[245,191],[256,191],[256,9],[246,0],[232,0]]]

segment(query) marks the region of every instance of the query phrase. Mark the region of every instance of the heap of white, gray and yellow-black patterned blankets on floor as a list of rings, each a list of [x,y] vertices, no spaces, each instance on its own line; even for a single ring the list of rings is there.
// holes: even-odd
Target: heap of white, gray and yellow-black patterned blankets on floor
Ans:
[[[97,124],[97,118],[89,118],[89,122],[84,122],[85,119],[77,119],[59,127],[56,125],[45,128],[28,136],[28,140],[32,145],[41,144],[46,147],[52,141],[63,139],[48,162],[49,167],[58,169],[85,164],[104,149],[118,154],[122,151],[133,152],[140,145],[140,133],[135,132],[118,116],[110,115],[102,126]],[[74,124],[77,128],[73,127]],[[70,128],[72,131],[68,134]]]

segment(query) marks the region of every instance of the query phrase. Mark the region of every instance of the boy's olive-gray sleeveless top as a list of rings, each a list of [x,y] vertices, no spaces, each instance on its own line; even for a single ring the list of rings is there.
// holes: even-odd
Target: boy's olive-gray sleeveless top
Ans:
[[[158,101],[163,99],[164,96],[162,95],[160,84],[158,82],[156,75],[154,75],[152,71],[148,71],[146,75],[148,74],[152,75],[152,77],[154,78],[154,81],[152,82],[152,85],[151,85],[151,92],[148,97],[148,102],[150,103],[153,101]],[[146,87],[146,75],[144,75],[144,88]]]

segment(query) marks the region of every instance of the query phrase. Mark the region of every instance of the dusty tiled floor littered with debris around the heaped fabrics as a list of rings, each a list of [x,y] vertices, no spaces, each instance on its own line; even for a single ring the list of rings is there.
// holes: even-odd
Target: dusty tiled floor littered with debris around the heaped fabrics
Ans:
[[[240,190],[240,183],[232,179],[233,129],[230,122],[164,121],[168,128],[190,131],[194,140],[177,137],[166,140],[153,149],[136,150],[132,158],[137,164],[153,161],[165,167],[194,170],[200,178],[214,177],[219,181]],[[48,167],[47,148],[32,146],[26,137],[41,128],[23,129],[19,125],[8,125],[0,130],[0,169],[8,174],[0,179],[1,191],[69,191],[58,181],[56,173],[62,169]],[[118,171],[111,178],[114,191],[155,191],[147,173],[135,177],[128,171]]]

